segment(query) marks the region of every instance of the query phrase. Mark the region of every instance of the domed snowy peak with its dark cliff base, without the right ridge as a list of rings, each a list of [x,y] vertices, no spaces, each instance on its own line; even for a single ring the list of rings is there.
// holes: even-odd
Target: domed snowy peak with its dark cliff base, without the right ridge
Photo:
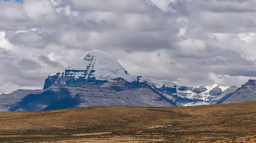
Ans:
[[[91,82],[101,84],[114,78],[127,77],[126,75],[129,75],[128,72],[116,58],[108,53],[94,50],[84,54],[63,72],[49,76],[45,81],[44,89],[53,83],[77,86]]]

